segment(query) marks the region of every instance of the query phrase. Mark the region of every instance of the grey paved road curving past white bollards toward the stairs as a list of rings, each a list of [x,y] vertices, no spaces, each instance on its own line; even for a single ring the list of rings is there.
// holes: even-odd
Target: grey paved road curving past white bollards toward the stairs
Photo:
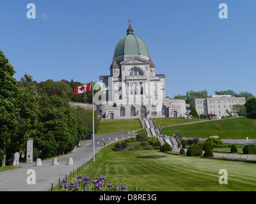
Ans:
[[[112,133],[104,135],[95,135],[95,153],[103,146],[116,140],[135,136],[129,133]],[[0,172],[0,191],[48,191],[53,186],[58,185],[59,179],[65,179],[70,175],[70,171],[77,170],[93,157],[93,140],[86,141],[83,146],[74,152],[58,157],[59,165],[52,165],[52,159],[42,161],[42,166],[35,166],[34,163],[20,163],[22,168]],[[68,157],[72,157],[74,165],[67,165]],[[97,157],[96,157],[97,159]],[[36,184],[27,184],[27,174],[29,169],[35,170]]]

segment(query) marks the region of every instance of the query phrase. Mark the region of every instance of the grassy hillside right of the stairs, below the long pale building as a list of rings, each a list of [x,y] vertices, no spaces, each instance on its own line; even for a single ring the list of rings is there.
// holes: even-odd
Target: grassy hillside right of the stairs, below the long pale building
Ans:
[[[175,130],[182,136],[189,138],[209,138],[218,135],[228,139],[256,139],[256,120],[246,117],[208,120],[195,124],[166,127],[162,129],[164,135],[173,135]]]

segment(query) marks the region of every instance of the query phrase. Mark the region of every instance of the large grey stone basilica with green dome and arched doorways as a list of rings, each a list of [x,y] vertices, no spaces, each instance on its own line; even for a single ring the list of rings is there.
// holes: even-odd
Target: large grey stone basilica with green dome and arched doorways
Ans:
[[[134,35],[130,20],[126,36],[115,47],[109,71],[110,75],[99,77],[97,114],[103,119],[186,116],[184,100],[166,98],[165,75],[156,74],[147,45]]]

